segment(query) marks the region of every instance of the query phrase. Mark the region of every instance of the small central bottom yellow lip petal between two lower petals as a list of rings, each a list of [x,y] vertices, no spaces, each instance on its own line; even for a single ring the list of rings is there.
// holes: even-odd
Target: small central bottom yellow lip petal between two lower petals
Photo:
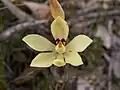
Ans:
[[[63,54],[57,54],[57,58],[53,61],[53,64],[57,67],[64,66],[66,63],[64,61]]]

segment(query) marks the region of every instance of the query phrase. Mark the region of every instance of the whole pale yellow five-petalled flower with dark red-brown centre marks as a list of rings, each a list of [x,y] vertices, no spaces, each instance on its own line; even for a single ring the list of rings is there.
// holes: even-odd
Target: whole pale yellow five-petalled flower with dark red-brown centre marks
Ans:
[[[78,35],[69,43],[66,43],[69,34],[67,22],[58,16],[51,24],[51,32],[56,45],[43,36],[30,34],[23,38],[31,48],[36,51],[51,51],[38,54],[31,63],[31,67],[50,67],[52,64],[61,67],[66,63],[73,66],[83,64],[77,52],[84,51],[92,40],[85,35]]]

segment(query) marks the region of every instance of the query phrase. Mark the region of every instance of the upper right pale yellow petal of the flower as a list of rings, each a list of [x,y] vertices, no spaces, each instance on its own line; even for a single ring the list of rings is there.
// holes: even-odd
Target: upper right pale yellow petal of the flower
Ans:
[[[92,39],[90,39],[86,35],[78,35],[76,36],[70,43],[67,44],[67,51],[76,51],[82,52],[84,51],[90,44],[92,43]]]

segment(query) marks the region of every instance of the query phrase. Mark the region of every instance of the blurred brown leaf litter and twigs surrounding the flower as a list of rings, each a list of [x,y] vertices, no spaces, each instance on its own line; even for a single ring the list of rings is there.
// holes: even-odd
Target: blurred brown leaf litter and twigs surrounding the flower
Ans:
[[[22,38],[36,33],[55,43],[48,0],[0,0],[0,90],[120,90],[120,0],[58,0],[69,40],[85,34],[93,43],[79,53],[84,65],[31,68],[39,53]]]

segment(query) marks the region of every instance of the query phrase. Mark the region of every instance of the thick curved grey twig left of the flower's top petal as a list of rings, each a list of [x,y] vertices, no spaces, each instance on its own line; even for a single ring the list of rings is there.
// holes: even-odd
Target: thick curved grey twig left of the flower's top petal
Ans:
[[[39,24],[43,24],[47,22],[46,20],[34,20],[34,21],[29,21],[29,22],[24,22],[22,24],[15,25],[11,28],[8,28],[4,32],[0,33],[0,42],[7,40],[11,36],[13,36],[15,33],[27,30],[28,28],[35,27]]]

